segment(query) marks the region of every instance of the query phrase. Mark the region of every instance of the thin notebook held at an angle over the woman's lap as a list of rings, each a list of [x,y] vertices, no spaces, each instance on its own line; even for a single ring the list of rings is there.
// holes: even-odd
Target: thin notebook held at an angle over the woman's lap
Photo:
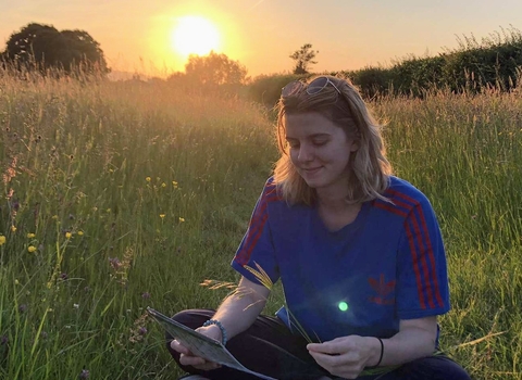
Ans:
[[[217,363],[223,366],[227,366],[250,375],[254,375],[260,379],[265,380],[276,380],[269,376],[254,372],[244,365],[241,365],[226,347],[209,337],[206,337],[179,322],[176,322],[174,319],[169,318],[167,316],[161,314],[158,311],[154,311],[151,307],[147,307],[147,312],[152,316],[163,328],[179,343],[185,347],[190,350],[190,352],[197,356],[203,357],[209,362]]]

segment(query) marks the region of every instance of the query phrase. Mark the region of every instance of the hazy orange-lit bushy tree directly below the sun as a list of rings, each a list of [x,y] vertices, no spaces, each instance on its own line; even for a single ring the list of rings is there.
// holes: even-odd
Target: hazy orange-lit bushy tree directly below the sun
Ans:
[[[202,85],[241,85],[247,79],[244,65],[213,51],[209,55],[189,55],[185,73]]]

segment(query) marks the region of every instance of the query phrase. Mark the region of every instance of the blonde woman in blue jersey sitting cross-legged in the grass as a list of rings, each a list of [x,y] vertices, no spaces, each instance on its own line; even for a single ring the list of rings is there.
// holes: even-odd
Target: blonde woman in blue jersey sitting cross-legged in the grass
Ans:
[[[346,80],[293,81],[278,103],[281,150],[217,311],[174,319],[276,379],[470,379],[438,349],[449,311],[440,230],[426,197],[391,176],[380,126]],[[261,316],[271,284],[286,304]],[[254,379],[167,342],[192,379]]]

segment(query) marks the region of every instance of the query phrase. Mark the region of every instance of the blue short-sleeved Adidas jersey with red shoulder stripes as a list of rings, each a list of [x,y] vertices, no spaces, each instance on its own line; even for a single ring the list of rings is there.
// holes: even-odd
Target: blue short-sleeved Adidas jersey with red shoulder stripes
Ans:
[[[316,207],[289,206],[269,179],[232,266],[253,282],[245,266],[281,279],[288,327],[297,320],[314,341],[389,338],[400,319],[447,313],[446,255],[428,200],[397,177],[384,197],[391,203],[365,202],[332,232]]]

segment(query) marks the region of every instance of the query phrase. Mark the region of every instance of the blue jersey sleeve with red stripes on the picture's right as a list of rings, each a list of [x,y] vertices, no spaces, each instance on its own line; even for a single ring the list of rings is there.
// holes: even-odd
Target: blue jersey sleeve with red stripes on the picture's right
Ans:
[[[440,228],[426,198],[411,207],[397,258],[397,316],[415,319],[449,311],[449,289]]]

